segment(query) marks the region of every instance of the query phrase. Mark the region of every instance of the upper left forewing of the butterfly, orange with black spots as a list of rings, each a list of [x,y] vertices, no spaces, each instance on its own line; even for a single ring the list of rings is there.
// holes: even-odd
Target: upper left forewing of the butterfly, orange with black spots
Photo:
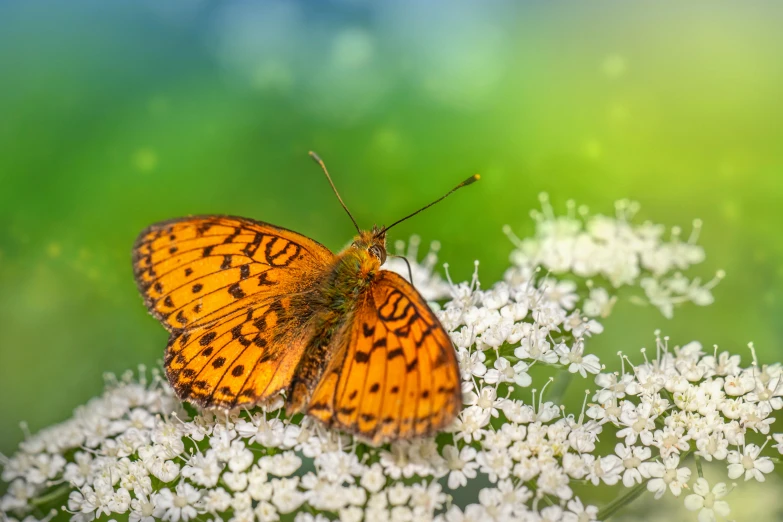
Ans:
[[[145,304],[169,330],[219,321],[302,288],[333,259],[326,247],[290,230],[223,216],[152,225],[133,249]]]

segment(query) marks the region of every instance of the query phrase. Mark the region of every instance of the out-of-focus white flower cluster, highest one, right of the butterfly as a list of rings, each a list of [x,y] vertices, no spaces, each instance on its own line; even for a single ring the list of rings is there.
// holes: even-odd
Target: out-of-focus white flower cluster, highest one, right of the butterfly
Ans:
[[[536,222],[534,237],[521,240],[510,227],[504,229],[517,247],[511,262],[525,277],[543,267],[555,275],[596,279],[597,300],[586,304],[588,316],[604,316],[611,310],[615,298],[607,286],[638,285],[646,297],[640,302],[656,306],[667,318],[676,305],[685,302],[712,304],[711,290],[724,277],[723,271],[707,283],[698,277],[688,279],[681,272],[704,261],[704,249],[696,244],[701,220],[694,220],[687,241],[682,241],[679,227],[671,229],[666,241],[663,225],[632,222],[639,211],[632,201],[618,201],[615,217],[591,215],[587,207],[577,209],[573,201],[568,202],[566,215],[557,216],[546,194],[539,199],[542,210],[531,213]],[[593,285],[591,279],[589,284]]]

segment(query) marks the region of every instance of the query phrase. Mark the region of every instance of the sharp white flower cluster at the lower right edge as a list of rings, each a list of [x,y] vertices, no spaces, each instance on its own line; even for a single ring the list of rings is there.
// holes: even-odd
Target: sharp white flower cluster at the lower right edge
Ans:
[[[728,488],[708,487],[701,460],[726,462],[729,479],[764,482],[774,463],[762,452],[773,438],[774,447],[783,450],[783,434],[770,435],[771,415],[783,408],[783,367],[759,367],[752,343],[753,363],[743,368],[738,355],[718,353],[717,346],[709,354],[698,342],[670,350],[668,341],[657,337],[652,360],[645,349],[644,362],[635,366],[619,354],[621,372],[596,376],[600,389],[587,416],[616,427],[620,441],[615,455],[603,457],[599,478],[607,484],[622,480],[626,487],[646,481],[656,498],[667,491],[678,497],[691,478],[691,469],[681,463],[693,456],[699,478],[685,507],[699,511],[702,522],[715,520],[716,514],[729,514],[720,500]]]

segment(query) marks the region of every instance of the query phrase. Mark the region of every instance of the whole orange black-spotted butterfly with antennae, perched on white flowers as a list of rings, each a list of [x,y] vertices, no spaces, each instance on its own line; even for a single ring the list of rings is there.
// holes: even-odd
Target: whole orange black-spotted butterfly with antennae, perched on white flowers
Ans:
[[[446,331],[386,260],[388,227],[335,255],[303,235],[230,216],[157,223],[133,247],[144,303],[171,333],[165,370],[202,407],[253,405],[285,391],[306,412],[373,443],[432,435],[462,404]]]

